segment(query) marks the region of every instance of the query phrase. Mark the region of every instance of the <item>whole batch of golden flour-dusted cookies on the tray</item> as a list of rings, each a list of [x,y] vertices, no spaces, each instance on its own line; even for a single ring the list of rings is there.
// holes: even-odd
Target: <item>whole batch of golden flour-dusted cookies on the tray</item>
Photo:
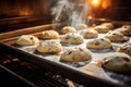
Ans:
[[[104,37],[99,37],[104,34]],[[129,36],[126,42],[124,37]],[[131,25],[123,25],[117,29],[112,23],[103,23],[93,28],[87,28],[85,24],[64,26],[60,32],[44,30],[39,37],[33,35],[20,36],[15,44],[20,46],[36,46],[36,51],[40,53],[60,53],[60,60],[66,62],[81,62],[92,60],[93,52],[90,49],[110,49],[112,42],[123,42],[116,52],[104,58],[102,66],[115,72],[131,71]],[[85,42],[85,39],[90,39]],[[75,47],[64,49],[62,44],[82,45],[85,48]]]

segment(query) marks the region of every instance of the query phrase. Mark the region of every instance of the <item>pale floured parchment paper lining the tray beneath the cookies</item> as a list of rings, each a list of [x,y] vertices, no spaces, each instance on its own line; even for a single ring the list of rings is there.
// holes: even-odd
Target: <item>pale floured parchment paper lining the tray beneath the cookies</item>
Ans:
[[[104,37],[105,34],[98,34],[98,37]],[[40,39],[43,40],[43,39]],[[84,42],[81,45],[70,45],[70,44],[64,44],[62,51],[64,51],[64,49],[69,49],[69,48],[75,48],[75,47],[81,47],[81,48],[86,48],[86,42],[90,41],[92,39],[84,39]],[[57,39],[57,41],[60,41],[59,39]],[[37,57],[40,57],[43,59],[49,60],[49,61],[53,61],[60,64],[66,64],[69,65],[71,67],[76,69],[79,72],[85,73],[87,75],[92,75],[95,77],[99,77],[103,79],[107,79],[110,80],[112,83],[117,83],[117,84],[121,84],[121,85],[129,85],[131,86],[131,74],[123,74],[123,73],[116,73],[116,72],[111,72],[108,71],[104,67],[102,67],[102,65],[99,64],[99,62],[102,61],[102,59],[104,58],[104,55],[108,54],[108,53],[112,53],[116,51],[116,49],[121,46],[123,42],[112,42],[112,48],[110,49],[104,49],[104,50],[92,50],[92,60],[88,61],[84,61],[84,62],[63,62],[60,60],[60,53],[55,53],[55,54],[47,54],[47,53],[39,53],[36,51],[36,47],[37,46],[16,46],[13,45],[14,47],[16,47],[17,49],[21,49],[23,51],[26,51],[28,53],[35,54]]]

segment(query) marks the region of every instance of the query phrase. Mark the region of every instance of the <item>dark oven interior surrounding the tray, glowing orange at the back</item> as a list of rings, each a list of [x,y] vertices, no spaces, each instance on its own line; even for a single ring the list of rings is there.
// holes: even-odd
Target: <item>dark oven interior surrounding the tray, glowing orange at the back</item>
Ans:
[[[71,0],[74,1],[75,0]],[[85,0],[76,0],[85,1]],[[88,2],[90,0],[87,0]],[[99,0],[103,2],[103,0]],[[107,0],[110,2],[110,5],[107,8],[103,8],[103,4],[99,4],[98,8],[94,8],[92,5],[92,11],[88,13],[88,15],[92,15],[94,18],[88,18],[90,25],[100,24],[104,22],[111,22],[115,24],[116,27],[119,27],[121,24],[131,24],[131,7],[130,7],[130,0]],[[105,2],[103,2],[105,3]],[[27,27],[35,27],[35,26],[45,26],[47,24],[52,24],[53,15],[51,15],[51,8],[57,4],[57,0],[14,0],[13,2],[11,0],[1,0],[0,1],[0,34],[5,34],[9,32],[19,33],[17,35],[21,35],[21,30],[25,30]],[[88,16],[86,15],[86,16]],[[63,22],[64,25],[64,22]],[[62,25],[62,26],[63,26]],[[59,26],[61,27],[61,25]],[[50,27],[51,29],[53,27]],[[48,29],[48,28],[46,28]],[[19,32],[20,30],[20,32]],[[36,29],[34,32],[40,32],[40,29]],[[15,35],[12,34],[12,37],[15,37]],[[2,39],[8,40],[5,38],[10,38],[10,36],[3,35]],[[2,40],[2,41],[3,41]],[[10,42],[10,41],[9,41]],[[88,77],[91,79],[83,79],[83,76],[79,82],[75,79],[75,75],[73,75],[72,71],[71,74],[60,74],[63,73],[62,71],[56,73],[55,70],[44,69],[41,65],[34,64],[31,61],[23,60],[23,55],[17,55],[14,52],[11,52],[12,49],[9,49],[7,46],[0,45],[0,84],[1,86],[7,86],[4,84],[4,79],[9,79],[8,82],[14,87],[24,86],[24,87],[69,87],[68,80],[72,79],[75,84],[75,87],[96,87],[93,85],[93,82],[97,84],[97,87],[105,87],[107,84],[110,87],[122,87],[119,85],[112,85],[108,82],[103,82],[99,79],[95,79],[92,77]],[[7,52],[7,50],[10,50]],[[14,50],[17,51],[17,50]],[[23,53],[24,54],[24,53]],[[41,67],[40,67],[41,66]],[[59,71],[59,70],[58,70]],[[71,75],[72,77],[68,76]],[[7,77],[8,76],[8,77]],[[10,78],[9,78],[10,77]],[[69,77],[69,79],[67,78]],[[79,76],[76,76],[79,78]],[[14,80],[14,82],[13,82]],[[88,82],[90,84],[85,83]],[[1,83],[3,82],[3,83]],[[8,83],[7,82],[7,83]],[[79,83],[79,84],[76,84]],[[82,84],[82,85],[80,85]],[[130,82],[129,82],[130,84]],[[9,86],[9,84],[8,84]],[[127,86],[128,87],[128,86]]]

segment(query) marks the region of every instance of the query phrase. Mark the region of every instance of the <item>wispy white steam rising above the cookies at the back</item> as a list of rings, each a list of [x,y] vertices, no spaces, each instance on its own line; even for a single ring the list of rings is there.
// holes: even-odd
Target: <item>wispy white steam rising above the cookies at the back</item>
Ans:
[[[53,23],[66,23],[75,27],[86,22],[87,11],[88,5],[85,0],[57,0],[51,14],[55,16]]]

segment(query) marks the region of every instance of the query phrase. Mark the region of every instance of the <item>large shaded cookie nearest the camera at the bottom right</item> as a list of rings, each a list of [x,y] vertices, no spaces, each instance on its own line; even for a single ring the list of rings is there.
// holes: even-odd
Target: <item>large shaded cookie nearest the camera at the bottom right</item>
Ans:
[[[131,71],[131,57],[122,52],[109,53],[104,58],[103,66],[115,72]]]

